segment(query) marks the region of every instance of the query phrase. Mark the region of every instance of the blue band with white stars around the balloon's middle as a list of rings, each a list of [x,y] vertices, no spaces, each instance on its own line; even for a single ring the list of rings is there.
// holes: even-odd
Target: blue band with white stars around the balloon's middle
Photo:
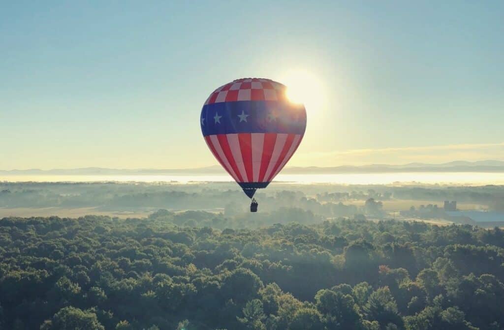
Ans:
[[[304,134],[303,105],[286,101],[234,101],[206,104],[201,110],[204,136],[233,133]]]

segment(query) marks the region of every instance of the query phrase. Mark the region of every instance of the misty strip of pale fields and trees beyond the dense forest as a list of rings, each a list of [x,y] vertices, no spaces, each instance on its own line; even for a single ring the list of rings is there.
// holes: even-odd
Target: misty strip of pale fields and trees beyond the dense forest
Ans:
[[[504,207],[504,186],[457,187],[437,185],[300,185],[275,184],[259,191],[260,210],[298,207],[325,217],[359,213],[380,216],[379,203],[391,200],[437,202],[456,200],[492,210]],[[363,202],[371,199],[377,204]],[[231,183],[0,183],[0,207],[97,207],[98,210],[154,211],[216,210],[234,216],[244,213],[248,198]],[[409,208],[409,206],[408,206]]]

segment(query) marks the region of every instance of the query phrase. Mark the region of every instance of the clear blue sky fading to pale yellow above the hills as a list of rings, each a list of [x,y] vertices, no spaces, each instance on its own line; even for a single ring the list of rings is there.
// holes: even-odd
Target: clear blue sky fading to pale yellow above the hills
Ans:
[[[0,169],[211,166],[201,107],[242,77],[310,78],[288,166],[504,160],[502,15],[499,1],[4,2]]]

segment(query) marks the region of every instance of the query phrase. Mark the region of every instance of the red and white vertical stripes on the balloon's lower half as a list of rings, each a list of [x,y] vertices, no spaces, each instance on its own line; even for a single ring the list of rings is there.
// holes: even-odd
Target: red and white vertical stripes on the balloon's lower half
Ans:
[[[236,182],[271,182],[301,143],[300,134],[238,133],[205,137]]]

